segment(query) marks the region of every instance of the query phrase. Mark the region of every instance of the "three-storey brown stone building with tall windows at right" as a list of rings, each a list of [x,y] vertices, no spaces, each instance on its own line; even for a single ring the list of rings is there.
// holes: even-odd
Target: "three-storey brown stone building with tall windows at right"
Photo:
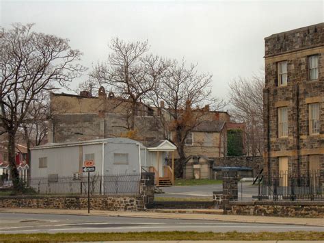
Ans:
[[[324,23],[265,38],[265,175],[324,170]]]

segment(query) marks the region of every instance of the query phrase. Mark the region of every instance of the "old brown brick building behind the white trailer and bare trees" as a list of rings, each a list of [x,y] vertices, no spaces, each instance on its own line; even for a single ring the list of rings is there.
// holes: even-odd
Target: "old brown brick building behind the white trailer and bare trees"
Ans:
[[[169,131],[170,115],[161,107],[150,107],[138,103],[135,116],[135,140],[148,146],[163,139],[172,140]],[[162,108],[163,107],[163,108]],[[126,136],[129,129],[129,101],[108,95],[99,90],[94,97],[87,92],[77,94],[51,93],[51,119],[49,120],[49,142],[74,142],[98,138]],[[186,139],[185,153],[224,157],[226,155],[226,129],[230,123],[227,112],[211,111],[201,117],[202,123],[195,127]],[[163,116],[163,119],[161,119]],[[161,123],[165,120],[165,123]],[[176,153],[175,157],[178,157]]]

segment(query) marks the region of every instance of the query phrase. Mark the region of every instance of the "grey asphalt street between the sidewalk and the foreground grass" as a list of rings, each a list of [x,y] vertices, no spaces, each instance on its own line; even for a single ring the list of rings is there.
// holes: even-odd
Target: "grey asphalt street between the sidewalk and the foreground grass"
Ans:
[[[0,233],[85,233],[130,231],[282,232],[324,231],[324,227],[221,222],[214,220],[0,213]]]

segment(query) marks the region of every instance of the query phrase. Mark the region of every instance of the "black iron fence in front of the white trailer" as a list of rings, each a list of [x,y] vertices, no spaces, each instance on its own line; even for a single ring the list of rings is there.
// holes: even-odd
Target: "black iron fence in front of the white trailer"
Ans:
[[[87,194],[87,175],[78,177],[48,177],[31,178],[29,187],[38,194]],[[90,194],[134,195],[140,193],[141,175],[90,175]]]

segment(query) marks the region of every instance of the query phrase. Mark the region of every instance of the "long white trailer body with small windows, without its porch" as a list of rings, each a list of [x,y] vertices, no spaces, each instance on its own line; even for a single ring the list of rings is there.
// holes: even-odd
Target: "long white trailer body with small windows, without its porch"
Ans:
[[[52,143],[31,149],[31,177],[72,177],[92,161],[100,175],[127,175],[146,166],[146,147],[129,138]]]

